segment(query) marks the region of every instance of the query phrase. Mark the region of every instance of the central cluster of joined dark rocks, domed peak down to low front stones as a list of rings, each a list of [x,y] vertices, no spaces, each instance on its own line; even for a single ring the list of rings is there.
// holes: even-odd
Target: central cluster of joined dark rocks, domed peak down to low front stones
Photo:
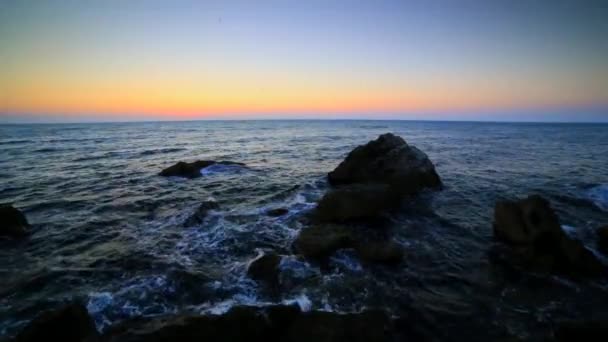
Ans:
[[[401,262],[399,244],[365,234],[361,226],[377,228],[377,221],[399,208],[405,197],[441,188],[428,156],[391,133],[355,148],[328,180],[334,188],[319,201],[314,224],[302,229],[294,242],[298,253],[318,262],[344,248],[354,249],[364,262]]]

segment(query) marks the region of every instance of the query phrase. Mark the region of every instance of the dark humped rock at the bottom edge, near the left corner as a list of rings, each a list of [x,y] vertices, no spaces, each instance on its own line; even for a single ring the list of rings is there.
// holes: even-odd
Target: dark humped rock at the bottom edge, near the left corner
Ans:
[[[72,303],[36,317],[15,337],[15,342],[78,342],[95,335],[95,323],[87,308]]]

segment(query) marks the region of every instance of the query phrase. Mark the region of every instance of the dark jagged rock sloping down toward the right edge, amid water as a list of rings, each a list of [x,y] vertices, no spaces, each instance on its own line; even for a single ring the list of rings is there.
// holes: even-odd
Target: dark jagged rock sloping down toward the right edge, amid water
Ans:
[[[569,237],[549,202],[538,195],[498,202],[494,235],[512,246],[514,264],[538,272],[602,276],[606,267],[583,244]]]

